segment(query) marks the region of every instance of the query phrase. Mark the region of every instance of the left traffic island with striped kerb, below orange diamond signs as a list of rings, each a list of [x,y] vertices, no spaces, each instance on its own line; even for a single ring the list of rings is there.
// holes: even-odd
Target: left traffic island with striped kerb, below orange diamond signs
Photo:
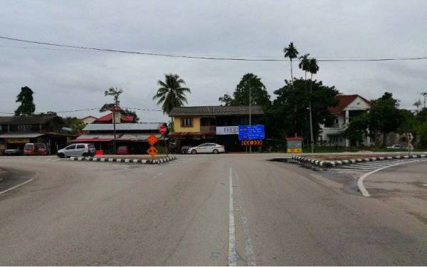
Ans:
[[[85,162],[120,162],[120,163],[139,163],[139,164],[162,164],[170,162],[171,160],[176,159],[175,156],[167,157],[155,157],[151,159],[144,156],[111,156],[111,157],[70,157],[70,160],[73,161],[85,161]]]

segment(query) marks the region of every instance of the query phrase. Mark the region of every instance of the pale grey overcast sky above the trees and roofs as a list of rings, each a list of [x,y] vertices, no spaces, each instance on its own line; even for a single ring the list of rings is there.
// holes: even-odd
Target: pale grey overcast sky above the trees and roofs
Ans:
[[[319,58],[427,56],[427,1],[1,1],[0,36],[128,51],[282,58],[293,41]],[[49,48],[49,49],[46,49]],[[207,61],[36,46],[0,40],[0,112],[13,112],[21,87],[36,112],[99,108],[122,88],[121,105],[159,109],[152,95],[164,73],[186,80],[188,105],[218,105],[245,73],[273,91],[288,62]],[[294,65],[297,69],[297,64]],[[427,61],[320,63],[317,79],[346,94],[389,91],[413,108],[427,91]],[[301,76],[295,70],[295,76]],[[94,112],[60,115],[100,114]],[[138,112],[141,121],[167,121]]]

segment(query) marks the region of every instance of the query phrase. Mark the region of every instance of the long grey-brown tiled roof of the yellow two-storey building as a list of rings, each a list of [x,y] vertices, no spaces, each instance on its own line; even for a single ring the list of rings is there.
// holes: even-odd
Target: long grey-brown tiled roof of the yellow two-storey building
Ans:
[[[263,115],[264,112],[259,105],[251,107],[252,115]],[[176,107],[169,116],[226,116],[226,115],[249,115],[249,106],[201,106],[201,107]]]

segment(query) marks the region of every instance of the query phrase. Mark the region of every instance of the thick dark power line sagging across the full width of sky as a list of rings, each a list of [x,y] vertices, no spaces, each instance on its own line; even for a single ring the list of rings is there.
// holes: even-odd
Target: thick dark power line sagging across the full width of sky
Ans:
[[[0,36],[1,39],[9,40],[9,41],[18,41],[23,43],[34,43],[37,45],[45,45],[45,46],[58,46],[58,47],[66,47],[66,48],[75,48],[82,50],[90,50],[90,51],[103,51],[103,52],[113,52],[113,53],[127,53],[127,54],[136,54],[142,56],[163,56],[169,58],[190,58],[190,59],[206,59],[206,60],[215,60],[215,61],[267,61],[267,62],[280,62],[280,61],[289,61],[288,59],[267,59],[267,58],[233,58],[233,57],[214,57],[214,56],[188,56],[188,55],[179,55],[179,54],[170,54],[170,53],[147,53],[147,52],[137,52],[137,51],[124,51],[117,49],[109,49],[109,48],[95,48],[88,46],[70,46],[60,43],[48,43],[43,41],[31,41],[24,40],[19,38],[11,38],[7,36]],[[321,62],[364,62],[364,61],[417,61],[427,59],[427,56],[418,56],[418,57],[389,57],[389,58],[349,58],[349,59],[319,59]]]

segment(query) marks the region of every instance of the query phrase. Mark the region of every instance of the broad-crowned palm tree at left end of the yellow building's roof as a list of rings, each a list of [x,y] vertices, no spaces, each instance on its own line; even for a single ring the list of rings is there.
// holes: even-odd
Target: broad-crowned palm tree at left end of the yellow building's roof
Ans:
[[[185,81],[179,78],[177,74],[165,74],[164,82],[158,80],[157,84],[160,85],[159,90],[153,96],[153,100],[157,100],[157,105],[163,103],[162,110],[169,115],[172,108],[181,107],[187,103],[185,93],[191,93],[190,88],[181,87],[185,85]]]

